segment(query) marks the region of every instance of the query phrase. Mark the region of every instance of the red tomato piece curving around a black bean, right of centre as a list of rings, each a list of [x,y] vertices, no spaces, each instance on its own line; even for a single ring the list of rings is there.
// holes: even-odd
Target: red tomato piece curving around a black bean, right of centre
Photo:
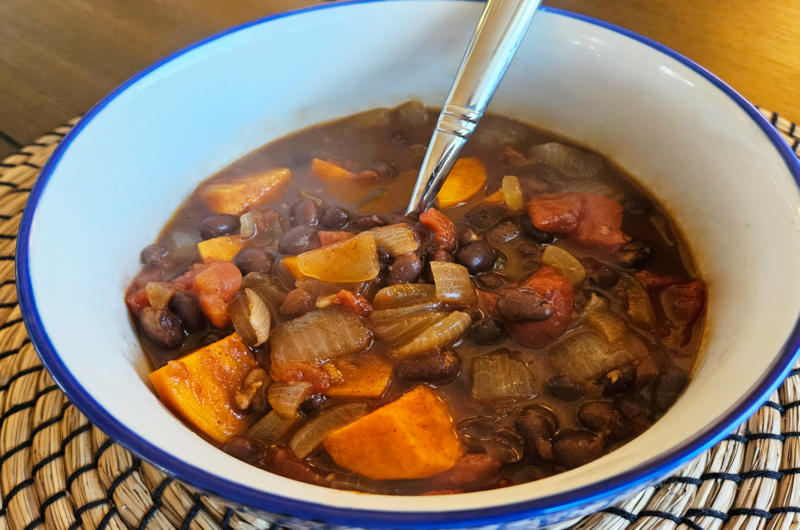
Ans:
[[[542,322],[506,322],[514,340],[525,346],[541,348],[564,334],[572,322],[575,301],[572,285],[553,267],[534,272],[521,287],[530,287],[553,306],[553,316]]]

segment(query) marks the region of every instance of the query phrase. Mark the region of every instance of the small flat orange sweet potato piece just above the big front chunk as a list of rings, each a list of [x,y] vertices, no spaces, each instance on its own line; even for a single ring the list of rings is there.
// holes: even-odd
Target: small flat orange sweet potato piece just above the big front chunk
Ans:
[[[335,359],[342,382],[325,392],[329,397],[380,399],[389,386],[392,367],[376,355]]]

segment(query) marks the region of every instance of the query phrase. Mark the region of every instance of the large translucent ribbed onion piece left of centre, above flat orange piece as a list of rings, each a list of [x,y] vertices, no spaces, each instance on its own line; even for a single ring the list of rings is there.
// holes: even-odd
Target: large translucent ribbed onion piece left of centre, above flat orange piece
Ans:
[[[317,363],[366,350],[372,332],[352,313],[326,307],[276,326],[270,342],[273,366],[282,372],[293,363]]]

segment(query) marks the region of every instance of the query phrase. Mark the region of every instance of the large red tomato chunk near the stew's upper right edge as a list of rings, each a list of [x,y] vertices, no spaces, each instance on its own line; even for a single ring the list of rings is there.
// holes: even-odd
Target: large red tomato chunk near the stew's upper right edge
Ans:
[[[622,213],[621,204],[593,193],[548,193],[528,202],[536,228],[593,248],[625,244]]]

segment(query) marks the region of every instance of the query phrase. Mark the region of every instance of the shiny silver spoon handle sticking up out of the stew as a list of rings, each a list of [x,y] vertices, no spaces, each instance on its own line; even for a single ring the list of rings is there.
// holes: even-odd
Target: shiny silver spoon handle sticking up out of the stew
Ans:
[[[433,131],[406,215],[436,198],[514,58],[542,0],[489,0]]]

